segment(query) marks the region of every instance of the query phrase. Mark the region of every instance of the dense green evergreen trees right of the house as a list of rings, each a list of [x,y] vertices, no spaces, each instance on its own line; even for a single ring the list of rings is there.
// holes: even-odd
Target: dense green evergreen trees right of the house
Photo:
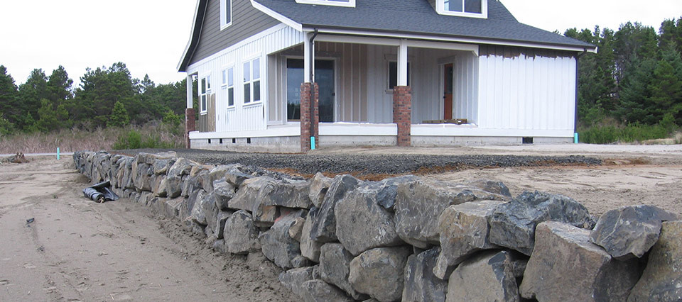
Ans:
[[[597,45],[579,59],[579,125],[682,125],[682,18],[659,30],[641,23],[565,36]]]

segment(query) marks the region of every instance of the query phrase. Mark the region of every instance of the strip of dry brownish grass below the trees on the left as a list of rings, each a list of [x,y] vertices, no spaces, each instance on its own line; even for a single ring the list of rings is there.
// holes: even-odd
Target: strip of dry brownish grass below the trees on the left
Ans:
[[[166,125],[148,123],[144,126],[128,126],[125,128],[97,128],[92,131],[86,130],[60,130],[52,133],[17,133],[0,137],[0,154],[23,153],[52,153],[75,152],[80,150],[112,150],[112,145],[117,142],[119,136],[137,130],[143,138],[155,137],[164,142],[173,142],[184,145],[181,131],[179,134],[172,133]]]

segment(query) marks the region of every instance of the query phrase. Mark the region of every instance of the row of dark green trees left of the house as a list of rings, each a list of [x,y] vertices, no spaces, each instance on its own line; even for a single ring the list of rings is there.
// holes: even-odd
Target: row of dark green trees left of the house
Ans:
[[[155,84],[148,75],[135,79],[122,62],[86,69],[76,88],[63,66],[50,75],[33,69],[26,82],[17,86],[0,65],[0,135],[93,130],[155,120],[179,123],[185,98],[185,80]]]

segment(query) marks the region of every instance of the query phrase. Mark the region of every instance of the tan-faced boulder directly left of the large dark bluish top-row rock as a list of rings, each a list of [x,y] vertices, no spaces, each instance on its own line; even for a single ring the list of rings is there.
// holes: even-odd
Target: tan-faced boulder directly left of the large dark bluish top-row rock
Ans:
[[[457,264],[478,250],[496,248],[488,240],[488,218],[504,201],[471,201],[445,208],[438,218],[440,247],[433,273],[446,279]]]

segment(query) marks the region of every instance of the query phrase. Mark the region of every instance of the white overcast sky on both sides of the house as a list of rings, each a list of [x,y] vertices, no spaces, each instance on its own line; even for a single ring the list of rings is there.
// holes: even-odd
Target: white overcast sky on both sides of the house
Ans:
[[[401,0],[395,0],[401,1]],[[493,1],[493,0],[490,0]],[[502,0],[516,19],[545,30],[602,28],[639,21],[659,29],[682,16],[682,0]],[[63,65],[75,83],[85,68],[124,62],[133,77],[182,80],[195,0],[0,0],[0,65],[16,84],[34,68]]]

